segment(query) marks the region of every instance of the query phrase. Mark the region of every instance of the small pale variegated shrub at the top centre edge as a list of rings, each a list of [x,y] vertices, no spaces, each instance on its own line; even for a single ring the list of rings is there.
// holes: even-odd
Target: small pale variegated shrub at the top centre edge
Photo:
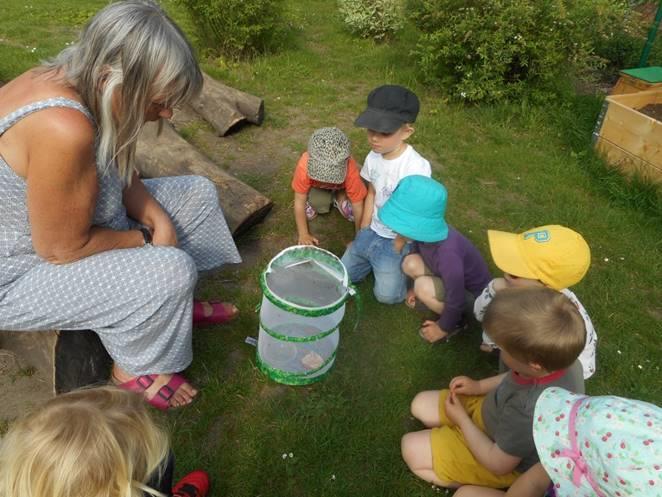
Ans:
[[[363,38],[384,41],[402,29],[401,0],[338,0],[349,30]]]

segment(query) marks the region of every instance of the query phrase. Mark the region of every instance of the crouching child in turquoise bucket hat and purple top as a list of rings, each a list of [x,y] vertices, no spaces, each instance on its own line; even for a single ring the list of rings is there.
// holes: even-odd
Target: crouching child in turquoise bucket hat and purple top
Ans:
[[[379,211],[379,219],[398,236],[396,250],[414,241],[402,261],[413,280],[406,304],[420,301],[439,314],[419,331],[437,343],[462,329],[463,313],[471,314],[473,300],[492,279],[478,249],[445,220],[448,194],[444,185],[426,176],[407,176]]]

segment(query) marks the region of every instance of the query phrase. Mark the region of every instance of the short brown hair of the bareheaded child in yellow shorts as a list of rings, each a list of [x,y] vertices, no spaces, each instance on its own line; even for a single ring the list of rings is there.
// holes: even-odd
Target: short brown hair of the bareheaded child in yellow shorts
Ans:
[[[547,372],[571,366],[586,341],[577,307],[562,293],[544,287],[497,292],[483,326],[508,355]]]

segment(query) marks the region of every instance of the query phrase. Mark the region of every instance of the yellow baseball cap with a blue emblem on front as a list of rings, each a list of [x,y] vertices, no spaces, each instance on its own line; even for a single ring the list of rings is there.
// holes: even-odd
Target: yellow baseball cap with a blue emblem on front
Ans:
[[[492,259],[504,273],[540,280],[554,290],[579,283],[591,264],[591,249],[576,231],[550,224],[524,233],[487,231]]]

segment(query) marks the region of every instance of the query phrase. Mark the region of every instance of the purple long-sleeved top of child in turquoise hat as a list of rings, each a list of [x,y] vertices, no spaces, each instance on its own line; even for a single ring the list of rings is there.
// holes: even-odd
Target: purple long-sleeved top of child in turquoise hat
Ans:
[[[421,254],[425,265],[444,282],[444,310],[437,324],[450,332],[462,319],[465,291],[478,297],[492,279],[487,263],[478,249],[451,226],[445,240],[415,242],[412,252]]]

